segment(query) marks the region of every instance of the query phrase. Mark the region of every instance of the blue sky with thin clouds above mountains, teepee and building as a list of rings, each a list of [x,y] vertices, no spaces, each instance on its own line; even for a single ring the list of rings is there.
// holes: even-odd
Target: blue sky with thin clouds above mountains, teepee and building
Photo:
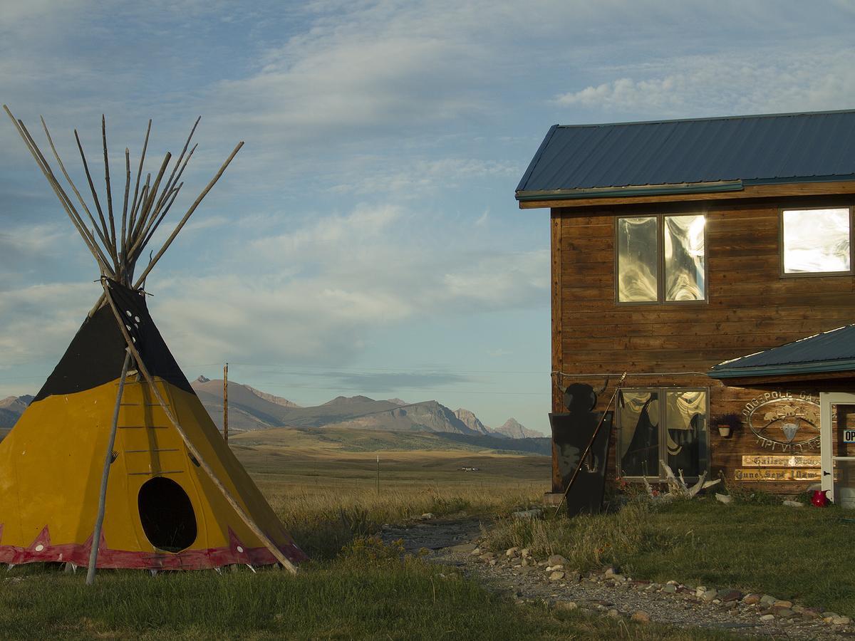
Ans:
[[[75,128],[97,162],[106,115],[116,175],[151,118],[156,172],[202,115],[155,248],[245,141],[145,286],[188,379],[548,433],[549,212],[514,190],[549,127],[853,109],[852,26],[852,0],[0,0],[0,102],[84,185]],[[38,391],[96,279],[3,115],[0,397]]]

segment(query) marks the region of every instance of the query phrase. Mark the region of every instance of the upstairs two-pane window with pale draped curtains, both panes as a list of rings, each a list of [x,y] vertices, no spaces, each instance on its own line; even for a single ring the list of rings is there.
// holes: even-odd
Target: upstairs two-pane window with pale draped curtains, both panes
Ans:
[[[617,302],[706,299],[704,215],[617,219]]]

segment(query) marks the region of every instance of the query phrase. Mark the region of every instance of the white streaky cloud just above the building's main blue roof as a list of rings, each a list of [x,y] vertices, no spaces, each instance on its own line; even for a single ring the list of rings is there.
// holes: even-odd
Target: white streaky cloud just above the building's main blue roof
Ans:
[[[781,113],[850,108],[855,47],[770,47],[683,56],[612,70],[622,77],[558,95],[554,103],[660,116]]]

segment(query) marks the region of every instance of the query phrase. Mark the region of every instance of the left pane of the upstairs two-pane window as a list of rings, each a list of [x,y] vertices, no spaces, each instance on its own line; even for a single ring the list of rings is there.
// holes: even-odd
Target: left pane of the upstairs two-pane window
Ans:
[[[656,301],[656,217],[617,219],[617,300]]]

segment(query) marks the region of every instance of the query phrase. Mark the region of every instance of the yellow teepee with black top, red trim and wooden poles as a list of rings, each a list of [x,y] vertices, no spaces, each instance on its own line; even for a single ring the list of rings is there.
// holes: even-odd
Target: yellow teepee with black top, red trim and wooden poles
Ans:
[[[0,443],[0,562],[88,564],[89,582],[95,567],[157,570],[280,563],[294,572],[304,553],[181,373],[151,320],[143,290],[151,268],[243,143],[134,280],[139,257],[183,185],[179,180],[196,149],[187,152],[198,120],[165,182],[170,154],[154,182],[148,174],[140,186],[151,121],[133,192],[125,150],[121,221],[110,191],[105,121],[105,208],[75,131],[96,221],[62,164],[44,119],[56,165],[80,209],[24,123],[5,105],[3,109],[95,257],[103,294]]]

